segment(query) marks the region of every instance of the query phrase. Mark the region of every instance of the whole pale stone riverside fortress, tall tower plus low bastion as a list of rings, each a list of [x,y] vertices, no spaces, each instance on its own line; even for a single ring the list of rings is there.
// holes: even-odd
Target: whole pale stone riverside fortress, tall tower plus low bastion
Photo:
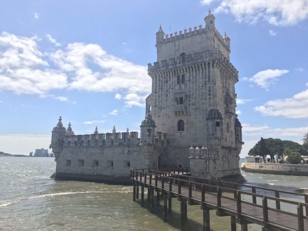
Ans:
[[[197,177],[240,176],[241,123],[235,114],[238,71],[230,39],[215,28],[156,32],[157,62],[148,64],[152,93],[138,132],[75,135],[61,117],[52,130],[56,178],[129,182],[131,169],[190,167]],[[167,135],[168,134],[168,135]]]

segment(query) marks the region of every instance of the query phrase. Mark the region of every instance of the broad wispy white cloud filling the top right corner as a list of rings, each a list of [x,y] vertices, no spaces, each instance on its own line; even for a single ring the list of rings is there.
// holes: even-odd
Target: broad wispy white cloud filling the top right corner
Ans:
[[[239,22],[254,24],[265,20],[272,25],[288,26],[307,18],[308,4],[307,0],[222,0],[214,12],[230,12]]]

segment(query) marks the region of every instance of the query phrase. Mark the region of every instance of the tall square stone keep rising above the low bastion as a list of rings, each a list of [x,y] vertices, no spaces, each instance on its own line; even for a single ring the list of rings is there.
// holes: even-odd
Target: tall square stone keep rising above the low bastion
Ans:
[[[216,150],[221,169],[238,168],[241,125],[235,114],[238,71],[230,63],[230,39],[215,28],[209,10],[205,28],[156,32],[157,61],[148,64],[152,93],[146,99],[161,132],[168,132],[170,160],[189,166],[189,147]],[[231,162],[230,162],[231,161]],[[228,163],[229,162],[229,163]]]

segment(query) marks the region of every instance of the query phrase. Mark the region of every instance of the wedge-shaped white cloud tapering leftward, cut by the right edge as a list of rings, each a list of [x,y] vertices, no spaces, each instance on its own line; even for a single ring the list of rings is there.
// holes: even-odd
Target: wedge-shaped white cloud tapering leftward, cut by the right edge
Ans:
[[[291,98],[270,100],[262,106],[255,107],[263,115],[283,116],[286,118],[308,118],[308,90]]]

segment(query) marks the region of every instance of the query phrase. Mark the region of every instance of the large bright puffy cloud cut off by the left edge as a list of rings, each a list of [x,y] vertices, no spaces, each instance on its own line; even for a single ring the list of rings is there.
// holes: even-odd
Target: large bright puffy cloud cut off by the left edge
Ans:
[[[0,90],[14,91],[17,94],[43,95],[51,89],[67,86],[67,75],[48,67],[43,60],[35,40],[2,32],[0,47]]]

